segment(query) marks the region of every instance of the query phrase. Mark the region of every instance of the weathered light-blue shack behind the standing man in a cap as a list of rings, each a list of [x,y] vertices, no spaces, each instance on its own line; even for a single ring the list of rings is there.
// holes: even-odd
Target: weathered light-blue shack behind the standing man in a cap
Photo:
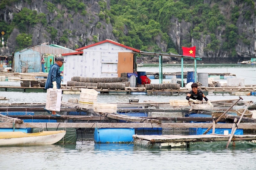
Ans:
[[[58,45],[38,44],[24,48],[12,53],[12,70],[20,73],[47,72],[50,65],[54,64],[54,57],[72,52],[75,52],[75,50]],[[44,62],[42,64],[43,59]],[[43,66],[46,66],[47,71],[44,71]]]

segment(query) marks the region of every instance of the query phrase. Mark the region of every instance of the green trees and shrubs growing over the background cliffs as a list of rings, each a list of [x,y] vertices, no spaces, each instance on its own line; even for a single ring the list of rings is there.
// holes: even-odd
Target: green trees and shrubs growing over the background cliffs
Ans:
[[[28,4],[30,2],[30,0],[24,1]],[[64,10],[57,9],[57,4],[64,6],[68,13],[74,11],[82,16],[91,16],[86,11],[84,2],[84,0],[45,0],[44,4],[46,4],[49,13],[58,12],[55,18],[48,21],[49,23],[46,18],[50,14],[37,13],[24,7],[19,13],[13,14],[10,24],[1,20],[0,31],[8,30],[4,35],[5,40],[12,33],[13,28],[19,29],[20,34],[25,33],[26,38],[30,38],[28,27],[41,23],[50,33],[51,40],[56,41],[58,28],[52,27],[51,22],[56,20],[64,22]],[[0,1],[0,9],[4,9],[5,6],[11,6],[14,3],[19,3],[19,1],[2,0]],[[237,21],[242,17],[242,20],[250,22],[252,15],[256,13],[254,1],[234,1],[233,4],[229,4],[230,1],[228,0],[211,0],[209,3],[204,3],[204,0],[110,0],[110,4],[107,4],[105,0],[100,0],[98,1],[100,12],[97,15],[100,21],[112,24],[113,34],[118,42],[142,51],[172,52],[177,54],[177,50],[180,48],[177,46],[189,47],[192,39],[194,41],[204,41],[205,37],[209,37],[210,41],[207,41],[207,45],[204,47],[205,52],[222,50],[226,51],[230,56],[236,56],[235,47],[238,40],[250,45],[248,34],[246,36],[246,34],[238,33]],[[108,9],[108,5],[110,5],[110,9]],[[223,14],[222,8],[225,6],[230,8],[228,14]],[[73,23],[76,18],[72,18],[72,15],[69,14],[68,19]],[[89,22],[84,22],[83,19],[79,21],[88,27],[95,18],[91,17],[90,19]],[[173,25],[184,23],[184,21],[188,32],[183,32],[185,35],[182,37],[181,42],[175,44],[172,40],[173,35],[171,32],[179,30],[170,30],[170,28]],[[105,29],[101,22],[97,22],[95,27],[97,29],[102,27]],[[72,34],[66,29],[62,33],[63,35],[59,37],[59,42],[66,43]],[[25,36],[25,34],[20,35],[20,37]],[[20,38],[17,38],[16,41],[19,44],[18,48],[26,48],[25,46],[28,45],[22,42]],[[86,42],[86,44],[88,41],[93,43],[98,41],[98,37],[97,35],[92,35],[91,40],[80,38],[79,43],[81,42],[82,44],[82,41]],[[162,48],[161,44],[165,44],[165,47]],[[78,47],[78,45],[74,44],[74,47]]]

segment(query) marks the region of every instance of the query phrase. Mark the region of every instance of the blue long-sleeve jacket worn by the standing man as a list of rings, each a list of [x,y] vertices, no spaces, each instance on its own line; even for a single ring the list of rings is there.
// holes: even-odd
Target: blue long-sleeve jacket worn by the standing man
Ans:
[[[49,70],[47,80],[45,82],[45,89],[53,87],[52,82],[56,81],[57,89],[60,89],[61,77],[60,77],[60,67],[55,63]]]

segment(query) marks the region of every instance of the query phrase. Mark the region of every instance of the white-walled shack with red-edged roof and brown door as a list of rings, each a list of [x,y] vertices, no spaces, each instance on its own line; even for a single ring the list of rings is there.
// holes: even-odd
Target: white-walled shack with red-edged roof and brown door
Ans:
[[[64,64],[63,82],[72,77],[110,78],[121,73],[136,71],[136,54],[140,50],[115,41],[104,40],[76,49],[77,52],[62,54]]]

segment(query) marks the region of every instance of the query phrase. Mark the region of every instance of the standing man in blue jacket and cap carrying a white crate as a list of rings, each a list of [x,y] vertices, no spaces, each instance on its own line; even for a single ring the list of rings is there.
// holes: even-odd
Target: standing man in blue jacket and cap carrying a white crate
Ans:
[[[63,63],[66,63],[62,57],[57,57],[55,64],[49,70],[47,80],[45,82],[45,89],[52,88],[53,90],[60,89],[61,77],[60,77],[60,67],[62,67]],[[50,111],[47,110],[50,114]],[[60,117],[60,115],[56,114],[55,111],[52,111],[52,116]]]

